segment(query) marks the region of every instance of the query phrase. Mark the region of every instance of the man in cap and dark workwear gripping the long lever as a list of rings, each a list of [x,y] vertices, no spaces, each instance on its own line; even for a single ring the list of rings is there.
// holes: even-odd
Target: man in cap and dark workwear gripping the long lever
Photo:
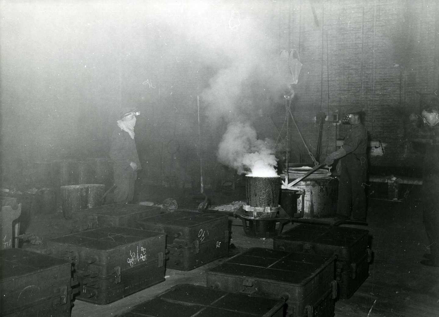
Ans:
[[[362,110],[354,109],[346,112],[351,125],[346,133],[343,146],[329,154],[325,163],[331,166],[341,158],[341,172],[338,179],[338,199],[336,220],[366,221],[367,178],[367,130],[361,123]]]

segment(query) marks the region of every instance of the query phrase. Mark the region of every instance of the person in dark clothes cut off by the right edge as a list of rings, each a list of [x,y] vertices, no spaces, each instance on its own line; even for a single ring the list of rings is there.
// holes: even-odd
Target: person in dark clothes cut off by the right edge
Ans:
[[[413,117],[413,116],[412,116]],[[432,98],[421,112],[424,125],[410,137],[411,142],[424,144],[422,170],[422,207],[429,253],[421,263],[439,267],[439,98]],[[416,116],[413,117],[413,121]]]

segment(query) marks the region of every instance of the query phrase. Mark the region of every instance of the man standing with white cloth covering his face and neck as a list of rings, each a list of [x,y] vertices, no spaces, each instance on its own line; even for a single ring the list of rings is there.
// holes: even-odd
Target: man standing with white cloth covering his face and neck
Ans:
[[[120,120],[112,133],[110,158],[113,160],[113,177],[115,183],[115,203],[127,203],[133,200],[134,183],[137,171],[141,169],[134,140],[136,116],[140,112],[136,108],[125,108],[119,112]]]

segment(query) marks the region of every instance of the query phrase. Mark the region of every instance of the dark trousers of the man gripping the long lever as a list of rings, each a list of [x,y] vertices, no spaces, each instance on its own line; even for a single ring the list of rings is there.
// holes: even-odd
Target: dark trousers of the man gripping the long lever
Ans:
[[[349,153],[341,161],[342,170],[338,179],[337,214],[366,220],[366,155]]]

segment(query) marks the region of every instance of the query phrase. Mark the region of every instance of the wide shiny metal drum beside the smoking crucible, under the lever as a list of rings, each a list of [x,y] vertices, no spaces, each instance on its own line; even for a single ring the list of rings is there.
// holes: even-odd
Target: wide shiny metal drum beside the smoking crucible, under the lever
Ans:
[[[330,218],[337,214],[338,180],[332,177],[302,180],[295,187],[305,191],[303,218]],[[302,197],[297,198],[297,213],[302,210]]]

